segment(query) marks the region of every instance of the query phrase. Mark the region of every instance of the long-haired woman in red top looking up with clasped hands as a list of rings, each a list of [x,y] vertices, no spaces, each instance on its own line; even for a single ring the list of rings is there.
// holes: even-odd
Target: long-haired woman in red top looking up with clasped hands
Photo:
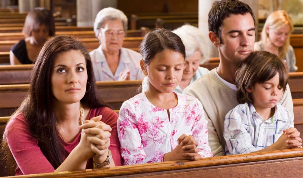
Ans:
[[[28,96],[5,128],[2,153],[16,175],[121,165],[117,118],[99,100],[86,48],[56,36],[39,53]]]

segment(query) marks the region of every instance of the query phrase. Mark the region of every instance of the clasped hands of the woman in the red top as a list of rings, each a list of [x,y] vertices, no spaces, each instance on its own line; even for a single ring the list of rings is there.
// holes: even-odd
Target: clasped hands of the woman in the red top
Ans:
[[[82,129],[79,145],[83,145],[83,154],[93,157],[95,162],[103,163],[108,155],[112,128],[100,121],[102,115],[86,120]]]

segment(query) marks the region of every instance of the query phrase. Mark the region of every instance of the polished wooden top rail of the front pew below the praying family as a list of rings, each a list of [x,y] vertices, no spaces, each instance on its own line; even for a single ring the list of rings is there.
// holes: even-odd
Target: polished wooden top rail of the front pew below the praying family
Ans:
[[[109,167],[101,169],[88,169],[80,171],[65,171],[59,173],[43,173],[43,174],[31,174],[24,176],[17,176],[20,178],[25,177],[106,177],[106,176],[119,176],[135,173],[151,173],[159,171],[171,171],[182,170],[188,168],[198,167],[210,167],[218,165],[231,165],[237,163],[250,163],[266,160],[278,160],[285,158],[296,158],[302,160],[303,148],[278,150],[270,152],[219,156],[211,158],[201,158],[196,161],[178,160],[178,161],[166,161],[161,163],[148,163],[128,166]],[[16,176],[14,176],[16,177]]]

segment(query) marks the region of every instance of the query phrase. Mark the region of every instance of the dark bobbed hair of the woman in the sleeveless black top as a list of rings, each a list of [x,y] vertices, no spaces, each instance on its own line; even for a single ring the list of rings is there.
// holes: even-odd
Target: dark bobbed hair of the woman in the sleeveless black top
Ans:
[[[51,11],[45,8],[35,8],[25,18],[22,33],[25,37],[32,36],[32,31],[38,26],[45,25],[49,30],[49,36],[55,35],[55,21]]]

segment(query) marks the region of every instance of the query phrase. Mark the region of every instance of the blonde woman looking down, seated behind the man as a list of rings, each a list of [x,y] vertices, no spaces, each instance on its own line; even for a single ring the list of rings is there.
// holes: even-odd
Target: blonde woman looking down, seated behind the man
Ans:
[[[288,72],[295,72],[296,57],[291,47],[290,34],[294,27],[290,16],[283,10],[272,12],[266,19],[261,32],[261,40],[255,42],[255,51],[276,54],[284,62]]]

